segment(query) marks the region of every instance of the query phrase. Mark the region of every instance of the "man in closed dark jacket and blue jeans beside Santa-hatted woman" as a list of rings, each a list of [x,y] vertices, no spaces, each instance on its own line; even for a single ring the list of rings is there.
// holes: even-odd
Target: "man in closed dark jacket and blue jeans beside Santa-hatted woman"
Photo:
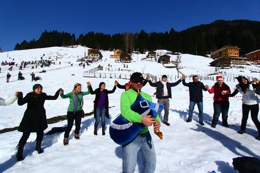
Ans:
[[[185,79],[182,80],[182,84],[184,86],[188,86],[189,89],[189,110],[188,110],[188,119],[186,122],[191,122],[192,113],[194,110],[195,104],[197,104],[198,108],[198,123],[200,125],[204,125],[203,123],[203,94],[202,90],[206,91],[204,84],[201,81],[198,81],[197,75],[192,76],[192,82],[185,82]]]

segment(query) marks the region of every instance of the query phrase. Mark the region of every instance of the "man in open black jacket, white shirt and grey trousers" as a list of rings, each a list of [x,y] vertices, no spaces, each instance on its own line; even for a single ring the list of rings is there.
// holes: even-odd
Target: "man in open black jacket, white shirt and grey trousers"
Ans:
[[[176,82],[167,82],[167,76],[162,75],[161,80],[155,83],[150,81],[150,76],[147,75],[146,80],[148,80],[150,86],[156,87],[156,98],[158,99],[157,102],[163,104],[164,106],[164,115],[163,115],[163,123],[167,126],[170,124],[168,123],[168,115],[169,115],[169,98],[171,98],[171,88],[172,86],[176,86],[184,79],[182,75],[179,80]],[[160,112],[159,112],[160,115]]]

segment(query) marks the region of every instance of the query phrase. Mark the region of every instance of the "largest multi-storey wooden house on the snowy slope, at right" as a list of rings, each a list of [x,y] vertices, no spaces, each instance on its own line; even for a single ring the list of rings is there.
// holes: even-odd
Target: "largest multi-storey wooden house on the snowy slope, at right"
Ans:
[[[226,45],[210,54],[214,59],[210,62],[210,66],[227,67],[232,64],[246,64],[246,58],[239,57],[239,47],[236,45]]]

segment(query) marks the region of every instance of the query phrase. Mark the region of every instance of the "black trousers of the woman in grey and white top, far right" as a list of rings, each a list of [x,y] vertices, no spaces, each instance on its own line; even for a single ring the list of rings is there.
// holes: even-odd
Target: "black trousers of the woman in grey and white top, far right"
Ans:
[[[253,104],[253,105],[247,105],[247,104],[242,104],[242,122],[241,122],[241,130],[245,130],[246,127],[246,121],[248,119],[248,114],[249,111],[251,111],[251,118],[254,123],[254,125],[257,128],[257,131],[260,135],[260,122],[257,118],[258,116],[258,111],[259,111],[259,105],[258,104]]]

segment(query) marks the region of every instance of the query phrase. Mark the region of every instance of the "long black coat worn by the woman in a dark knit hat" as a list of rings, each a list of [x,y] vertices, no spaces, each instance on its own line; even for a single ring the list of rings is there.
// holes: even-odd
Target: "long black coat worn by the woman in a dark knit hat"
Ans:
[[[18,127],[18,131],[21,132],[37,132],[43,131],[48,127],[45,108],[43,107],[44,101],[57,99],[59,90],[55,95],[47,95],[42,92],[36,94],[35,92],[27,93],[23,98],[18,97],[18,105],[27,103],[27,108],[23,114],[22,120]]]

